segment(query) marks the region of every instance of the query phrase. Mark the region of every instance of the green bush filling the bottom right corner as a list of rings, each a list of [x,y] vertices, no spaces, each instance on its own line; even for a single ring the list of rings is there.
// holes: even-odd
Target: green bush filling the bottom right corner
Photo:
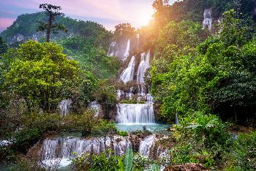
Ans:
[[[256,132],[239,134],[230,154],[225,170],[256,170]]]

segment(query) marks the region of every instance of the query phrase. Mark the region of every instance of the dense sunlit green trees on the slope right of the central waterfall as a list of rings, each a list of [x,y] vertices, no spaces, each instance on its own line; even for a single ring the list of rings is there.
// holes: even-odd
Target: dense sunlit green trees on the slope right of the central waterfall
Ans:
[[[222,31],[204,42],[192,21],[165,26],[158,39],[159,59],[151,69],[152,93],[163,104],[162,115],[174,118],[200,110],[254,124],[255,40],[250,28],[233,10],[223,15]],[[177,38],[168,37],[170,31]]]

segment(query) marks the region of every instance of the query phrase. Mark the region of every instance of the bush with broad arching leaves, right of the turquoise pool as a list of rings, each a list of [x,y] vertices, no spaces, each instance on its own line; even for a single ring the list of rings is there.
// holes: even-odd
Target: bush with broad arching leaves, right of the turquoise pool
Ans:
[[[203,115],[200,112],[195,116],[181,118],[180,124],[176,125],[176,140],[186,141],[188,137],[195,142],[203,142],[206,148],[214,145],[230,145],[231,136],[227,132],[226,124],[216,115]]]

